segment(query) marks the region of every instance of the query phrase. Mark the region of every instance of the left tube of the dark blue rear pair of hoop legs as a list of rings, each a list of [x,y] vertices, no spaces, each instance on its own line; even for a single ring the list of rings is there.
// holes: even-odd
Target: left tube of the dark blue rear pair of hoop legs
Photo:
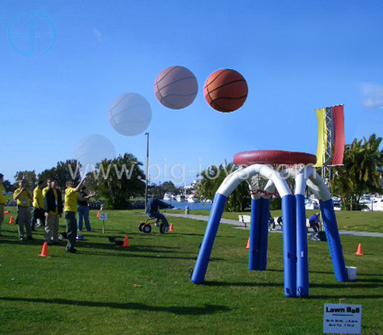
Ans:
[[[251,200],[249,270],[259,269],[259,221],[261,218],[262,199]]]

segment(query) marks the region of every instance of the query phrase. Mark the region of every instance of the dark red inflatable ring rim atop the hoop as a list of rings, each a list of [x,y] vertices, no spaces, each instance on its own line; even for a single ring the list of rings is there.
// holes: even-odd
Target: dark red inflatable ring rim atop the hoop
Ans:
[[[237,165],[308,165],[317,163],[317,157],[306,152],[293,152],[282,150],[253,150],[237,153],[236,155],[234,155],[233,162]]]

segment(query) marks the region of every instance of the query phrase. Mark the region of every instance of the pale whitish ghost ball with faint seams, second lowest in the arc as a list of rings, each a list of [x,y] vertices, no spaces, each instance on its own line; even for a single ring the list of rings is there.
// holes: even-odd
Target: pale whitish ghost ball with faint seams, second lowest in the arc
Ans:
[[[140,94],[124,93],[110,104],[108,117],[115,131],[121,135],[135,136],[148,128],[152,109]]]

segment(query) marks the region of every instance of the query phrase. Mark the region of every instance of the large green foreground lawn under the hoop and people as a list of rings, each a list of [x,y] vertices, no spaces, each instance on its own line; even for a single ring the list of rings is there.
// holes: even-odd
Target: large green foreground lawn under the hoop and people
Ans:
[[[340,298],[363,306],[363,334],[383,334],[382,239],[341,237],[346,265],[358,267],[358,281],[346,283],[334,278],[327,244],[308,241],[310,297],[291,299],[281,234],[269,235],[268,271],[248,271],[248,231],[222,224],[207,282],[195,285],[189,270],[206,222],[172,217],[174,232],[144,235],[140,215],[108,212],[103,235],[92,211],[79,253],[51,246],[48,258],[37,256],[42,228],[20,243],[16,226],[3,224],[0,334],[323,334],[323,304]],[[107,239],[125,234],[131,247]],[[358,243],[365,256],[355,255]]]

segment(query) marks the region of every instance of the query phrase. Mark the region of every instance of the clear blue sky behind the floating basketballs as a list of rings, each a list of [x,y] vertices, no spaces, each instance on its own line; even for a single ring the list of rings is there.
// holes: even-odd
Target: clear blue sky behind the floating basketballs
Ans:
[[[8,42],[12,19],[25,12],[18,25],[28,27],[31,10],[57,29],[42,57],[22,57]],[[5,0],[0,13],[5,178],[72,158],[90,134],[144,161],[144,134],[124,137],[107,119],[111,101],[125,92],[152,107],[150,163],[185,164],[186,172],[243,150],[315,153],[315,109],[330,105],[345,104],[346,143],[383,136],[382,1]],[[49,27],[40,22],[40,29]],[[47,46],[36,40],[35,55]],[[160,105],[153,92],[159,72],[174,65],[192,70],[199,85],[194,103],[179,111]],[[204,100],[204,81],[220,68],[248,82],[248,99],[233,113]],[[170,179],[161,174],[157,181]]]

